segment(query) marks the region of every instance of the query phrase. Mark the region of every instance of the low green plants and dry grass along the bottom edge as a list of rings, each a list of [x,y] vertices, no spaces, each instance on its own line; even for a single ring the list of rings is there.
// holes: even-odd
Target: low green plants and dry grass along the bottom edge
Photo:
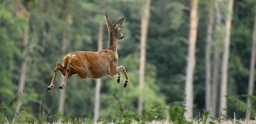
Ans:
[[[119,100],[115,94],[112,94],[116,100]],[[246,98],[250,98],[255,103],[254,96],[244,95]],[[235,97],[228,96],[228,99],[231,102],[234,102],[240,107],[241,110],[244,109],[244,104],[242,101]],[[207,110],[204,113],[199,114],[194,119],[186,120],[185,112],[186,110],[186,95],[183,95],[183,102],[180,105],[178,102],[175,102],[170,108],[164,106],[153,106],[151,109],[144,109],[142,115],[138,115],[134,112],[124,112],[124,108],[120,101],[116,105],[120,110],[120,113],[117,113],[115,120],[108,121],[100,119],[97,124],[255,124],[256,120],[246,120],[246,119],[236,119],[234,114],[233,119],[227,119],[225,117],[219,119],[213,119],[211,117],[211,111]],[[253,108],[251,111],[255,111]],[[43,108],[39,108],[39,117],[35,119],[27,112],[22,111],[20,114],[14,117],[14,119],[5,118],[5,124],[14,124],[14,123],[35,123],[35,124],[93,124],[91,118],[73,118],[63,117],[62,112],[57,112],[55,115],[49,115],[49,111],[45,112]],[[254,114],[254,113],[253,113]],[[54,119],[53,122],[48,122],[48,120]]]

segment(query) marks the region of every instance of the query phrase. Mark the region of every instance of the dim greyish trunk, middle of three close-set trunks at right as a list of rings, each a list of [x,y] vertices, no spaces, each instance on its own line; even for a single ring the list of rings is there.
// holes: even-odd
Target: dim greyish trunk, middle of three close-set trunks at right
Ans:
[[[216,11],[216,24],[215,32],[219,32],[221,29],[221,11],[219,9],[219,1],[215,1],[215,11]],[[215,43],[219,44],[221,41],[219,37],[216,37]],[[216,118],[217,114],[217,98],[218,98],[218,77],[219,77],[219,48],[218,45],[214,46],[214,57],[213,57],[213,75],[212,75],[212,117]]]

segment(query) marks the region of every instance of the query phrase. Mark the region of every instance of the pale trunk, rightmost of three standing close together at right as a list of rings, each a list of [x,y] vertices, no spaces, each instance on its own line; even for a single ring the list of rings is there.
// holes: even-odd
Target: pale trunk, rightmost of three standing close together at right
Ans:
[[[220,114],[226,116],[227,111],[227,78],[228,78],[228,59],[229,59],[229,44],[230,44],[230,28],[231,28],[231,19],[233,14],[233,3],[234,0],[229,0],[228,3],[228,13],[226,17],[226,36],[224,43],[223,59],[222,59],[222,80],[221,80],[221,102],[220,102]]]

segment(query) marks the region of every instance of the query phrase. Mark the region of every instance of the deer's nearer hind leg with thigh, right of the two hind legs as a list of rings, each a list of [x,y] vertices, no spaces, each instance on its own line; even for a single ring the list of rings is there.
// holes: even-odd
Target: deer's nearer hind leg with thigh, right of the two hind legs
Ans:
[[[66,69],[66,74],[65,74],[65,78],[64,81],[62,82],[62,84],[59,86],[59,89],[64,89],[66,87],[67,84],[67,80],[70,76],[72,76],[73,74],[77,74],[79,75],[79,77],[81,78],[85,78],[86,77],[86,71],[81,68],[81,67],[77,67],[76,65],[74,65],[71,61],[68,62],[67,65],[67,69]]]

